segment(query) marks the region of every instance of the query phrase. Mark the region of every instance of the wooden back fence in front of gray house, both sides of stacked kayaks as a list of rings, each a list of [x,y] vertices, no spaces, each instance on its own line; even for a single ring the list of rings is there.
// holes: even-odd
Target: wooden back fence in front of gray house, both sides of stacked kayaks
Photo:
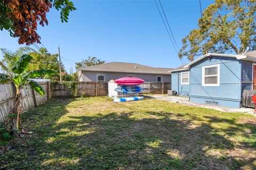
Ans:
[[[53,97],[107,96],[107,82],[52,82]],[[145,82],[140,84],[142,94],[166,94],[171,90],[169,82]]]

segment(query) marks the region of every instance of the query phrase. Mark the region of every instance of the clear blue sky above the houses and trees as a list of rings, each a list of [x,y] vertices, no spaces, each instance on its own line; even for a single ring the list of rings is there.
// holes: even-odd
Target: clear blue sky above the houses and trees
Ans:
[[[49,25],[38,27],[42,44],[50,53],[58,53],[60,45],[61,56],[74,62],[96,56],[107,62],[154,67],[181,65],[154,1],[73,2],[77,10],[70,13],[68,23],[62,23],[60,13],[52,8],[47,13]],[[182,38],[197,28],[197,20],[201,17],[199,0],[161,2],[181,47]],[[201,1],[202,9],[211,3],[213,1]],[[15,51],[20,46],[9,32],[0,32],[0,48]],[[62,61],[68,72],[75,65],[71,61]]]

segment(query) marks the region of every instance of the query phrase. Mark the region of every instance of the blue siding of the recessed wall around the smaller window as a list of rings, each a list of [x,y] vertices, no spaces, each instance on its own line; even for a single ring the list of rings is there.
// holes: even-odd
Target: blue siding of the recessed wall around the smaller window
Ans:
[[[187,71],[172,72],[172,90],[175,90],[181,96],[189,95],[189,84],[181,84],[181,73]]]

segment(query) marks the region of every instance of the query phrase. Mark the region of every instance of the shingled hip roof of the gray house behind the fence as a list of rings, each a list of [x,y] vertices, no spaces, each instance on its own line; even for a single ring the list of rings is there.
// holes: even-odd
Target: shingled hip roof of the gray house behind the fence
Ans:
[[[157,68],[136,63],[110,62],[105,64],[88,66],[77,70],[84,71],[106,71],[106,72],[126,72],[126,73],[148,73],[148,74],[171,74],[169,68]]]

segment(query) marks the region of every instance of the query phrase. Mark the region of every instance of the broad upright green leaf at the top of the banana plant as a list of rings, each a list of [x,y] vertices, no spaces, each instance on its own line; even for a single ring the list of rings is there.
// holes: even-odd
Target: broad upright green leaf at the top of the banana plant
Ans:
[[[28,66],[29,62],[33,59],[30,55],[22,55],[17,65],[12,68],[12,72],[16,74],[21,74]]]

